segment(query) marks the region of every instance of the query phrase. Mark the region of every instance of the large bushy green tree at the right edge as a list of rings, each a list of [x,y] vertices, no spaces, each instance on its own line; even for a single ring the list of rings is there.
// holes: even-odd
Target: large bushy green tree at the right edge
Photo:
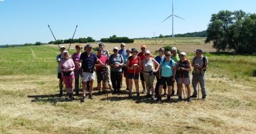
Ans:
[[[212,14],[205,43],[213,42],[217,51],[234,50],[237,54],[256,52],[256,14],[244,11],[220,11]]]

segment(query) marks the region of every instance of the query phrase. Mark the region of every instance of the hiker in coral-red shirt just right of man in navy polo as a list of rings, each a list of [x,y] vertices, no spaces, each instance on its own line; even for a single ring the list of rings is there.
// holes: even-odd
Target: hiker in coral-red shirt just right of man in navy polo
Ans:
[[[102,62],[102,64],[108,64],[108,57],[103,55],[102,48],[98,48],[97,57]],[[97,89],[100,93],[101,82],[102,82],[102,92],[106,93],[106,75],[107,68],[106,66],[102,67],[100,64],[95,64],[96,66],[96,75],[97,75]]]

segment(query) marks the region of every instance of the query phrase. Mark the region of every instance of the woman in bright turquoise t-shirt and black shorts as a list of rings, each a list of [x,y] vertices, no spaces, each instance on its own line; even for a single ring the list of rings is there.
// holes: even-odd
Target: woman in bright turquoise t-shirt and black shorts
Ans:
[[[161,60],[160,63],[160,68],[159,68],[159,74],[158,78],[160,79],[159,83],[159,96],[157,97],[157,101],[162,100],[162,89],[163,85],[166,83],[167,84],[167,89],[168,89],[168,96],[167,100],[171,100],[171,92],[172,92],[172,84],[173,81],[175,80],[176,75],[176,64],[175,61],[171,59],[171,52],[167,51],[165,53],[165,58]]]

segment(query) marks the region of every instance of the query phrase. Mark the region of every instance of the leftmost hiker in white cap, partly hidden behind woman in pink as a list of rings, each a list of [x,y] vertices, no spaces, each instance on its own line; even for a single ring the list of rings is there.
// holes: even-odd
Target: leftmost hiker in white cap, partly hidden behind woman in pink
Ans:
[[[60,87],[60,94],[59,96],[61,97],[63,95],[63,80],[61,78],[61,70],[60,70],[60,61],[61,59],[63,59],[63,51],[65,51],[65,47],[64,46],[60,46],[60,54],[58,56],[56,56],[56,61],[58,63],[58,78],[59,78],[59,87]]]

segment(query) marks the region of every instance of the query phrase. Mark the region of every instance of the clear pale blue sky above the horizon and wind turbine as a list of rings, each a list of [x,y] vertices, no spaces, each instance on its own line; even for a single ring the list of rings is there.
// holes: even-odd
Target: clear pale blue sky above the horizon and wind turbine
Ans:
[[[207,29],[212,13],[243,10],[255,13],[254,0],[173,0],[174,34]],[[0,44],[23,44],[113,34],[129,38],[172,34],[171,0],[0,0]]]

